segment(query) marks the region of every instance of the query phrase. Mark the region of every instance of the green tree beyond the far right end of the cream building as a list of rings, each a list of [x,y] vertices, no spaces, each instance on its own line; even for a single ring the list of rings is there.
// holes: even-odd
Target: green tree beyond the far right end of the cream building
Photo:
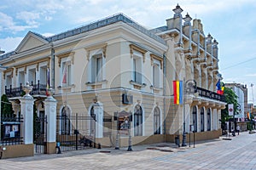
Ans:
[[[229,111],[228,111],[228,105],[233,104],[234,105],[234,114],[238,113],[238,103],[237,103],[237,95],[231,88],[224,88],[224,97],[226,100],[226,108],[224,110],[221,110],[221,124],[222,127],[224,127],[225,122],[228,122],[231,116],[229,116]]]

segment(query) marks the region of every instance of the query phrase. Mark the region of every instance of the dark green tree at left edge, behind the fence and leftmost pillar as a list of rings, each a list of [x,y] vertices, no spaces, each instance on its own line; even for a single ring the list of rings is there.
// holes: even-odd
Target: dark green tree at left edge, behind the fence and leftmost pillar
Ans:
[[[1,97],[1,116],[2,117],[13,117],[15,116],[13,106],[9,102],[6,94],[3,94]]]

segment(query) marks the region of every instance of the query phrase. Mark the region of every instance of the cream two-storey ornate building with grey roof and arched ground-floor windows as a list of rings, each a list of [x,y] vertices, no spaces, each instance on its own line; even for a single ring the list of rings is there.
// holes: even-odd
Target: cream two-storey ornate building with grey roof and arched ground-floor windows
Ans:
[[[113,145],[116,113],[129,113],[132,144],[174,141],[194,126],[197,139],[218,138],[225,103],[215,93],[218,42],[205,36],[201,20],[178,5],[166,26],[148,30],[124,14],[43,37],[29,31],[15,51],[0,56],[3,94],[19,116],[26,82],[33,86],[38,116],[44,116],[49,82],[54,88],[57,135],[73,135],[76,114],[94,117],[76,124],[79,133],[95,133],[96,142]],[[183,81],[183,105],[173,104],[172,81]],[[105,122],[106,117],[111,117]],[[83,129],[83,130],[82,130]],[[120,145],[128,136],[119,137]]]

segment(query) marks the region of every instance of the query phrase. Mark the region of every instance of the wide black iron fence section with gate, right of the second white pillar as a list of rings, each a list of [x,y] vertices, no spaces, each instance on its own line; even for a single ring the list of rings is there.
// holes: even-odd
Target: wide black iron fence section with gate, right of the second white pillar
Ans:
[[[57,116],[56,142],[61,151],[96,147],[96,116]]]

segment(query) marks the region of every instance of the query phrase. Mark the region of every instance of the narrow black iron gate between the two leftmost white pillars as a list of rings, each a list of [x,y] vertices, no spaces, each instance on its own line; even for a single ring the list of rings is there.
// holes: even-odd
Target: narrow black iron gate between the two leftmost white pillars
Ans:
[[[34,153],[46,153],[46,136],[47,136],[47,117],[44,112],[40,112],[39,116],[34,118]]]

